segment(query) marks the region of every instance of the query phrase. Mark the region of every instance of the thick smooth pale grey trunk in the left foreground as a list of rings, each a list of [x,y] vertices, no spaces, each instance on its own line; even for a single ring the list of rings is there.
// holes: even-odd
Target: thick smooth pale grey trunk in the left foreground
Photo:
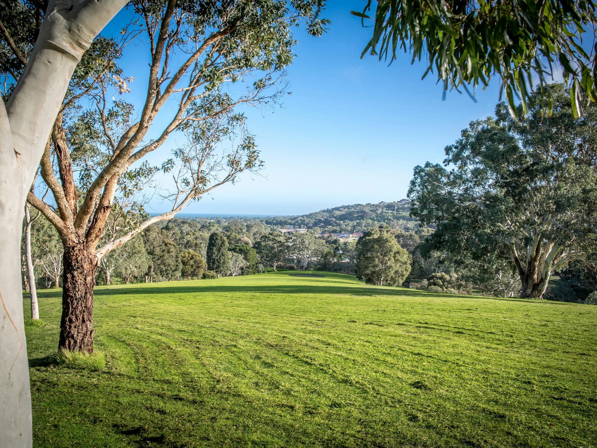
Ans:
[[[0,105],[0,441],[32,446],[20,243],[27,193],[70,77],[125,0],[51,1],[29,63]]]

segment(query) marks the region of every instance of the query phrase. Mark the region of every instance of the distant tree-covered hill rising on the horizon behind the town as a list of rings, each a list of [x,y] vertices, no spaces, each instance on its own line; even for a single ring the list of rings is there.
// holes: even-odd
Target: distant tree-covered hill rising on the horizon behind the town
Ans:
[[[380,225],[415,232],[419,229],[418,222],[409,216],[409,211],[410,201],[403,199],[378,204],[341,205],[298,216],[265,218],[264,222],[279,228],[294,226],[332,233],[363,232]]]

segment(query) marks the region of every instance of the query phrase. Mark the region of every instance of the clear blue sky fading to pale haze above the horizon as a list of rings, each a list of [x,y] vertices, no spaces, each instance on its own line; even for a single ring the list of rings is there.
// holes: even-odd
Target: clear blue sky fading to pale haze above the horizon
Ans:
[[[410,55],[402,54],[390,66],[374,56],[361,59],[371,29],[362,28],[350,10],[363,5],[363,0],[329,0],[322,15],[331,24],[321,38],[296,29],[297,57],[287,77],[291,95],[281,108],[244,110],[264,170],[257,176],[241,174],[240,182],[214,189],[186,213],[302,214],[400,200],[416,165],[441,162],[444,147],[462,128],[493,115],[498,79],[476,91],[476,103],[456,91],[442,101],[435,75],[421,81],[426,66],[411,66]],[[121,15],[114,22],[124,20]],[[146,86],[147,53],[143,46],[130,47],[121,62],[125,75],[135,76],[127,94],[135,103]],[[176,136],[150,162],[170,157],[173,145]],[[147,210],[168,206],[156,195]]]

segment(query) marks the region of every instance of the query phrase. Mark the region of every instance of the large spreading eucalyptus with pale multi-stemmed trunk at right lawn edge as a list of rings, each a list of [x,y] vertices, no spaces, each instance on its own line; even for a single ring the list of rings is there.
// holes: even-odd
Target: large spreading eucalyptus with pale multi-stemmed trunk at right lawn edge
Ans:
[[[540,298],[553,272],[597,248],[597,107],[574,118],[568,91],[550,88],[552,116],[540,93],[521,120],[498,104],[447,146],[444,166],[416,167],[408,192],[413,216],[438,227],[434,247],[496,274],[509,262],[499,271],[518,272],[522,297]]]

